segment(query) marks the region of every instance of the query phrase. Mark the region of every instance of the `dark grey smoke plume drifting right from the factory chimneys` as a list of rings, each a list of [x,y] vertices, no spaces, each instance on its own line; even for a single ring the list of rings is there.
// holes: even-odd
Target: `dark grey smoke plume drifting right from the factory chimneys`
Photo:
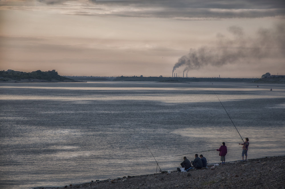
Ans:
[[[178,59],[174,70],[183,67],[183,73],[197,70],[207,65],[223,66],[239,62],[256,63],[257,60],[285,56],[285,24],[273,28],[260,28],[255,37],[247,37],[243,28],[231,26],[228,31],[232,38],[217,34],[215,46],[190,49],[190,52]]]

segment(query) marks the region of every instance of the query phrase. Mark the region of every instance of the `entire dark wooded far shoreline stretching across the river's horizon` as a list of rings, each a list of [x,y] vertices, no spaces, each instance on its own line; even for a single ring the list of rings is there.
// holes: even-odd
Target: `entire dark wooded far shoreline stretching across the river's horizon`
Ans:
[[[177,75],[177,74],[176,74]],[[149,76],[60,76],[56,70],[22,72],[8,69],[0,71],[1,83],[58,83],[58,82],[86,82],[86,81],[157,81],[171,83],[209,82],[209,83],[285,83],[284,75],[271,75],[266,73],[262,78],[221,78],[221,77],[159,77]]]

